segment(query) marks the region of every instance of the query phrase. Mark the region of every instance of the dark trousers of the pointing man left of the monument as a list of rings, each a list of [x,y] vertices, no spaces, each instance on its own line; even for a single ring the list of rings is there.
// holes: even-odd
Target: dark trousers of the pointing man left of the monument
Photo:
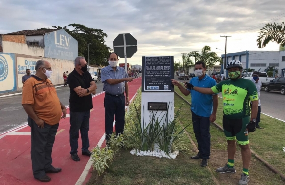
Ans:
[[[115,116],[116,135],[124,132],[125,127],[125,96],[110,96],[105,94],[104,107],[105,107],[105,139],[113,132],[113,122]]]

